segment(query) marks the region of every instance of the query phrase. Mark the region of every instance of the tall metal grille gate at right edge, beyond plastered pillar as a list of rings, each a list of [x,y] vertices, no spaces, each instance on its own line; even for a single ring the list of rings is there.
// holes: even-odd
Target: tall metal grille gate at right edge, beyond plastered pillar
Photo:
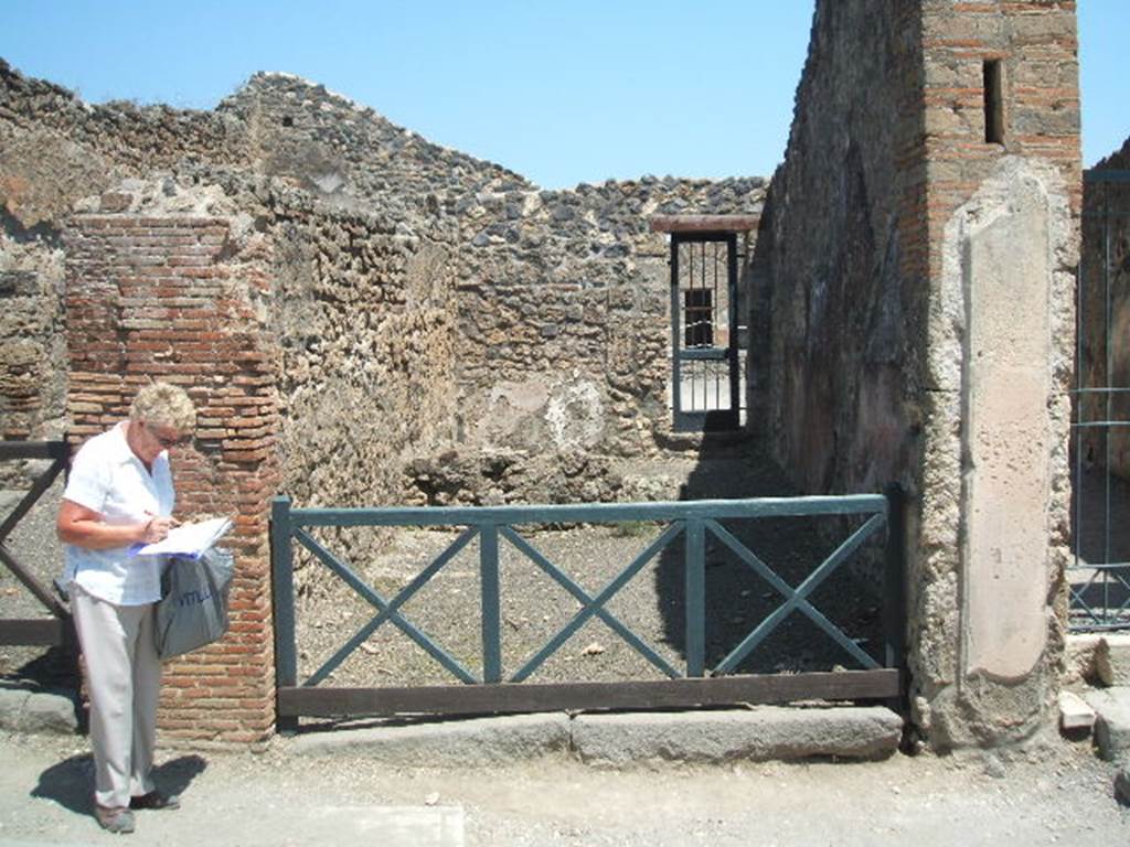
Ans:
[[[1084,174],[1070,627],[1130,628],[1130,172]]]

